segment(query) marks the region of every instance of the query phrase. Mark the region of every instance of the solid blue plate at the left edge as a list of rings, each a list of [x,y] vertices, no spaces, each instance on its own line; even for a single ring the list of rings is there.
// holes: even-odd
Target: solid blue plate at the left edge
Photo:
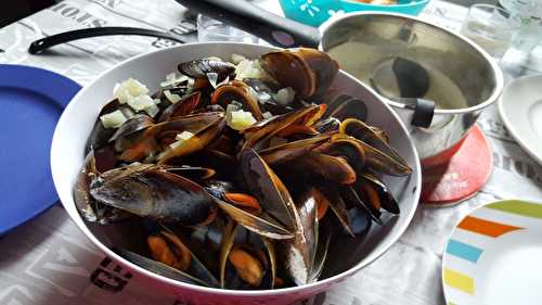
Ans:
[[[79,89],[50,71],[0,64],[0,236],[59,200],[49,162],[51,139]]]

